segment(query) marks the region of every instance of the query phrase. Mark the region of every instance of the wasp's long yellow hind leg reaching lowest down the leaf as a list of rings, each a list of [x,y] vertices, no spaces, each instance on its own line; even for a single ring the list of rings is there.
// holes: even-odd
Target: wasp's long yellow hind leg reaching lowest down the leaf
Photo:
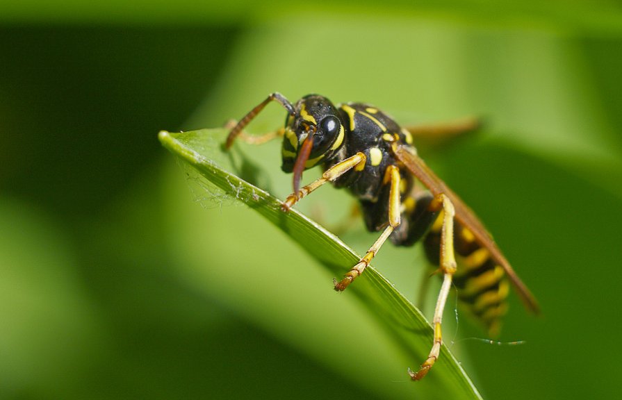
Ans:
[[[409,369],[408,373],[413,381],[422,379],[439,358],[441,344],[443,343],[441,333],[443,310],[445,310],[445,302],[451,289],[452,277],[456,272],[456,258],[454,254],[455,210],[452,202],[445,194],[439,194],[434,197],[428,206],[428,210],[431,212],[436,212],[441,208],[443,210],[443,226],[441,227],[440,267],[443,272],[443,284],[441,285],[439,299],[436,300],[436,308],[434,309],[434,344],[432,344],[432,350],[430,350],[427,360],[421,365],[418,372],[412,372]]]

